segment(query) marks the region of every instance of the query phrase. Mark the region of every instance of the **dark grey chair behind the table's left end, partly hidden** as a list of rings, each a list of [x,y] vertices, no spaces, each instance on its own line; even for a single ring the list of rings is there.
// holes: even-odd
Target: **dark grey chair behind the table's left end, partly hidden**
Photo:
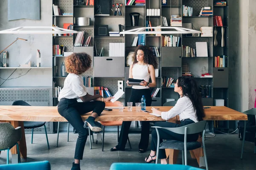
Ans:
[[[15,102],[13,102],[12,105],[14,105],[14,106],[31,106],[28,103],[24,102],[23,100],[17,100]],[[50,149],[45,122],[29,122],[29,121],[24,121],[24,129],[32,129],[31,143],[33,143],[34,128],[41,127],[41,126],[44,126],[47,146],[48,146],[48,149]]]

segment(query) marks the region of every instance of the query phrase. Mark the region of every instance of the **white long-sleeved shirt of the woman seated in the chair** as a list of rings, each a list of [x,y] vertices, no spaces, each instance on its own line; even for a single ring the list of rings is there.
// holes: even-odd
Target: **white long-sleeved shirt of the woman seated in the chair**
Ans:
[[[180,121],[184,119],[191,119],[194,122],[198,122],[196,111],[193,108],[191,100],[187,96],[180,97],[177,100],[176,105],[167,112],[162,112],[161,117],[164,120],[173,118],[174,116],[180,116]]]

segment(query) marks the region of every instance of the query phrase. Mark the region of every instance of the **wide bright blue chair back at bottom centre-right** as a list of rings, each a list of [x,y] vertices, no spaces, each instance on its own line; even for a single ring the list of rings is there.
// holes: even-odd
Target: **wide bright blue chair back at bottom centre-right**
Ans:
[[[110,170],[202,170],[180,164],[113,163]]]

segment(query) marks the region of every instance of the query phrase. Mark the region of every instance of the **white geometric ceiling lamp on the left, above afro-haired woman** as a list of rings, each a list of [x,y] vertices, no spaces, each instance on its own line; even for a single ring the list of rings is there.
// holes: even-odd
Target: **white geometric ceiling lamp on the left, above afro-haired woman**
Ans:
[[[0,31],[0,34],[76,34],[78,31],[53,26],[21,26]]]

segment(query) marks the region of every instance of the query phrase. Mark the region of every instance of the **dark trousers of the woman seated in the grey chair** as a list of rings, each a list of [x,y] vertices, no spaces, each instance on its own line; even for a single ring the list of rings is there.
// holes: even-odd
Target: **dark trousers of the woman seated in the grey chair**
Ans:
[[[191,123],[195,123],[191,119],[184,119],[180,124],[172,123],[172,122],[156,122],[155,126],[160,127],[181,127],[185,125],[189,125]],[[160,143],[165,140],[177,140],[177,141],[184,141],[184,135],[177,134],[174,132],[171,132],[166,129],[158,129],[159,136],[160,136]],[[152,141],[151,141],[151,150],[156,151],[157,150],[157,131],[154,129],[151,133]],[[187,135],[187,142],[195,142],[198,139],[198,133],[195,134],[189,134]],[[158,154],[159,159],[165,159],[166,153],[165,149],[160,149]]]

